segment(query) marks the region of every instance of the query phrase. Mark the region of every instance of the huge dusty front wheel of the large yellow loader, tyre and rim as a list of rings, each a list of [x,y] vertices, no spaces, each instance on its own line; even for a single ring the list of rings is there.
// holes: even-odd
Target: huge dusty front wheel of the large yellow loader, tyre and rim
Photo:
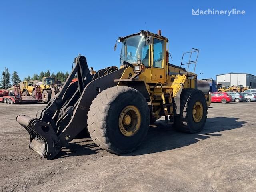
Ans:
[[[88,131],[92,140],[108,152],[128,153],[146,137],[150,110],[142,94],[130,87],[103,90],[92,101]]]

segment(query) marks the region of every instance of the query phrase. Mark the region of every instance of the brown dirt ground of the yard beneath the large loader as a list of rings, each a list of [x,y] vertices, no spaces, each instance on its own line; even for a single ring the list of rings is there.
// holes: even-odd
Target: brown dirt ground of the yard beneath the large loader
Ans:
[[[256,189],[256,103],[213,103],[200,134],[150,126],[138,150],[114,155],[75,139],[54,160],[28,148],[16,116],[45,104],[0,103],[0,191],[252,192]]]

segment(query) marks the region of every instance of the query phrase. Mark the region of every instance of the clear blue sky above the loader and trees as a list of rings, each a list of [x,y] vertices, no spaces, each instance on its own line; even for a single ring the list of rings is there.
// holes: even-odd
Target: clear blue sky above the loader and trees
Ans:
[[[172,64],[182,53],[200,49],[198,78],[245,72],[256,75],[256,2],[211,1],[1,1],[0,71],[20,78],[41,71],[70,71],[74,57],[86,56],[98,70],[119,66],[118,36],[147,29],[169,39]],[[200,10],[245,10],[245,15],[192,16]],[[145,26],[146,22],[146,26]],[[200,74],[203,73],[203,74]]]

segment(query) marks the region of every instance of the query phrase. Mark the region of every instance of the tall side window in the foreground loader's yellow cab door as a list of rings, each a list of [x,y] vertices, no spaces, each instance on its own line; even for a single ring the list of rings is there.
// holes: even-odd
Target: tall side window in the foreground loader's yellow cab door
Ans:
[[[164,41],[154,38],[153,42],[153,67],[164,68]]]

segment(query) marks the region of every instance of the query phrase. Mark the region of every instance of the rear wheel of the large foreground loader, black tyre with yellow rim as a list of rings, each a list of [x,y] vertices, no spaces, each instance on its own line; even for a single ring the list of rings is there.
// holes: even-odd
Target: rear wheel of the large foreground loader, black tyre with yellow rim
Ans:
[[[207,118],[207,104],[202,91],[183,89],[180,97],[180,115],[174,118],[175,130],[198,133],[204,128]]]

